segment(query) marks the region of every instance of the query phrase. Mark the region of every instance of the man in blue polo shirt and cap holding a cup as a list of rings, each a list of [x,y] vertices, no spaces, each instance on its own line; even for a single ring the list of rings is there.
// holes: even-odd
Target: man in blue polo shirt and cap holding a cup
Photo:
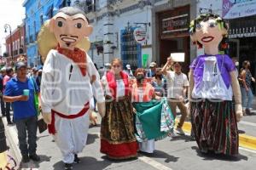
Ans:
[[[39,161],[40,157],[36,153],[38,114],[34,105],[34,93],[38,93],[38,87],[26,77],[25,63],[18,62],[15,71],[17,76],[6,83],[3,100],[12,103],[14,109],[22,162],[26,163],[30,159]]]

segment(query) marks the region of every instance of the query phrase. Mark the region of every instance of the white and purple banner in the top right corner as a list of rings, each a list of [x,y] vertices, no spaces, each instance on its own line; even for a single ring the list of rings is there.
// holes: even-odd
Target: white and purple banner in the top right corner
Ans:
[[[256,0],[224,0],[224,19],[235,19],[256,14]]]

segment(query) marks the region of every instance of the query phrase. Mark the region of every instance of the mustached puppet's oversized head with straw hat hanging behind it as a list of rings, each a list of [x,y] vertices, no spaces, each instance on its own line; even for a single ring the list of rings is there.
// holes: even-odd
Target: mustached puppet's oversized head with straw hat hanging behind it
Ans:
[[[88,37],[93,28],[79,8],[61,8],[50,20],[45,21],[38,34],[38,50],[45,60],[50,49],[67,48],[73,50],[90,48]]]

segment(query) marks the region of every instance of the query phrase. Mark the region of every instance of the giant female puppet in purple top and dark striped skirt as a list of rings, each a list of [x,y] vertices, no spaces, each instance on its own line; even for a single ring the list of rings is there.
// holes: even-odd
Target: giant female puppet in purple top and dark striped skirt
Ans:
[[[191,22],[191,39],[204,47],[205,54],[190,65],[189,98],[192,127],[199,149],[236,155],[237,122],[242,116],[241,93],[236,66],[228,55],[218,54],[218,45],[227,37],[227,29],[224,20],[215,14],[201,14]]]

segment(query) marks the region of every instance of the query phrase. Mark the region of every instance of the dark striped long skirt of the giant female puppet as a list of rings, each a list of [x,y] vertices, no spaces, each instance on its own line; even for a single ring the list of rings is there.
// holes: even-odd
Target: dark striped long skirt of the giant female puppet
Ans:
[[[212,150],[225,155],[238,154],[238,129],[232,101],[206,99],[192,102],[191,122],[202,152]]]

